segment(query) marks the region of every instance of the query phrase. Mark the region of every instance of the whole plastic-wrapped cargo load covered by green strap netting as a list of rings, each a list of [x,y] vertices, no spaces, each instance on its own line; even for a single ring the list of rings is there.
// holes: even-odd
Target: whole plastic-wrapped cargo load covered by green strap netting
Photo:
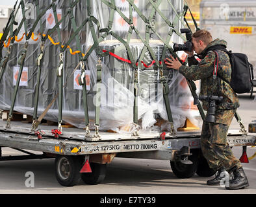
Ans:
[[[32,130],[44,118],[86,136],[199,125],[194,82],[164,64],[170,54],[186,64],[172,47],[186,41],[188,10],[171,0],[18,1],[0,42],[6,127],[14,109],[32,116]]]

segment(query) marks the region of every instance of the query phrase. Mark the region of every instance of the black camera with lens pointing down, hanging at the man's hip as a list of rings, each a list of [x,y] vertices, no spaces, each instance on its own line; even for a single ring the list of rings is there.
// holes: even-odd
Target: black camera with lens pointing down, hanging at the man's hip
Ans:
[[[212,95],[199,96],[199,100],[209,102],[209,109],[207,111],[207,115],[205,116],[205,122],[215,123],[216,102],[222,102],[223,97]]]

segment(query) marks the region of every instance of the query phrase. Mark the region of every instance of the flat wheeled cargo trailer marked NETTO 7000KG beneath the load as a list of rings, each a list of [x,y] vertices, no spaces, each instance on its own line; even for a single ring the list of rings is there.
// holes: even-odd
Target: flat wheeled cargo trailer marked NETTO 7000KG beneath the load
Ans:
[[[172,171],[179,178],[195,173],[209,177],[215,173],[201,155],[199,131],[178,131],[176,135],[147,132],[139,136],[100,131],[100,137],[94,140],[93,136],[86,137],[83,129],[69,128],[61,135],[53,135],[53,126],[42,126],[41,133],[36,133],[29,124],[12,122],[8,129],[5,124],[0,121],[0,156],[2,147],[28,155],[1,156],[0,160],[55,158],[55,174],[62,186],[74,186],[80,178],[86,184],[99,184],[114,157],[170,160]],[[239,130],[230,130],[227,136],[231,147],[255,146],[255,140],[255,135],[244,135]],[[26,150],[40,151],[42,155]]]

